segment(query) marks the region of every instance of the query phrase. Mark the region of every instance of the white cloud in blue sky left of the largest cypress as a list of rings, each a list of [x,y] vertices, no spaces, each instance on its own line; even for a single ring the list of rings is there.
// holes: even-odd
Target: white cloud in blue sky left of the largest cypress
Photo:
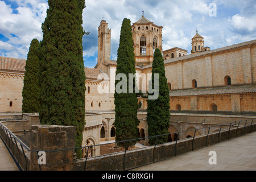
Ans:
[[[16,1],[18,8],[16,13],[10,5],[6,5],[4,1],[0,1],[0,34],[9,40],[6,44],[12,45],[8,55],[16,55],[18,58],[26,59],[28,48],[31,40],[36,38],[42,40],[42,22],[46,18],[47,3],[39,3],[38,1]],[[31,3],[32,8],[27,3]],[[7,47],[9,48],[9,47]],[[7,48],[1,48],[8,51]],[[4,51],[4,52],[5,52]]]

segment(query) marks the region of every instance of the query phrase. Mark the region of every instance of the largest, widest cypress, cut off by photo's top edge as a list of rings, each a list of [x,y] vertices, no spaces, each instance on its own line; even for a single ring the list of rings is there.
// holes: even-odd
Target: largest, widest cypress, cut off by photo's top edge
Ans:
[[[82,57],[84,0],[48,0],[42,24],[40,60],[40,122],[76,126],[76,147],[81,147],[85,125],[85,72]],[[81,150],[76,151],[81,157]]]

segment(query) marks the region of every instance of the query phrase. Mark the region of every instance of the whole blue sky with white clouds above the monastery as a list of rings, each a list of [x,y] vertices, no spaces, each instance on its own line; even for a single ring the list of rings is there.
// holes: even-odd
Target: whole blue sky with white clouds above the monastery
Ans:
[[[98,26],[102,19],[112,29],[112,60],[117,49],[123,18],[131,23],[144,16],[163,26],[163,50],[173,47],[191,53],[191,39],[198,30],[210,49],[256,39],[255,0],[85,0],[83,11],[84,65],[97,64]],[[32,39],[43,38],[42,23],[47,0],[0,0],[0,56],[27,59]]]

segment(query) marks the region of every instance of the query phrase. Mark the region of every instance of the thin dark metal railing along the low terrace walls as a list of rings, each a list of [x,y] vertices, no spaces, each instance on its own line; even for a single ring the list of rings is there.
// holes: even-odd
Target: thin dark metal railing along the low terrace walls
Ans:
[[[55,163],[55,164],[36,164],[36,163],[32,163],[30,162],[31,164],[34,164],[34,165],[38,165],[39,166],[39,169],[41,169],[41,166],[54,166],[54,165],[59,165],[59,164],[64,164],[64,163],[71,163],[71,162],[79,162],[80,160],[82,160],[84,162],[84,170],[86,170],[86,164],[88,162],[88,152],[89,152],[89,147],[101,147],[101,146],[104,146],[104,145],[108,145],[108,144],[114,144],[115,146],[118,146],[119,143],[125,143],[126,146],[127,146],[127,143],[128,142],[131,142],[131,141],[140,141],[140,140],[152,140],[152,138],[154,138],[155,140],[155,144],[154,145],[151,145],[151,146],[144,146],[144,148],[146,147],[154,147],[153,151],[152,151],[152,162],[155,163],[155,149],[156,149],[156,146],[158,146],[159,144],[163,144],[163,143],[158,143],[158,138],[160,137],[168,137],[168,135],[175,135],[176,134],[176,140],[174,141],[171,141],[171,142],[175,142],[175,146],[174,146],[174,156],[177,155],[177,142],[178,140],[185,140],[185,139],[188,139],[188,138],[185,138],[185,137],[180,137],[182,134],[184,135],[184,133],[193,133],[193,137],[191,136],[190,139],[192,139],[192,151],[194,150],[194,145],[195,145],[195,138],[196,137],[199,137],[199,136],[202,136],[202,135],[206,135],[206,146],[208,146],[208,137],[209,137],[209,134],[211,133],[210,132],[210,129],[215,129],[214,131],[212,131],[212,133],[217,133],[218,132],[218,143],[220,142],[220,133],[221,131],[228,131],[228,140],[230,139],[230,131],[231,131],[231,128],[233,126],[233,128],[235,127],[236,129],[236,137],[238,137],[238,129],[239,128],[243,128],[243,131],[245,131],[245,127],[246,126],[253,126],[255,125],[256,123],[254,123],[254,119],[247,119],[247,120],[244,120],[244,121],[236,121],[236,122],[231,122],[231,123],[223,123],[223,124],[220,124],[220,125],[212,125],[212,126],[207,126],[207,127],[202,127],[202,128],[199,128],[199,129],[192,129],[192,130],[187,130],[187,131],[179,131],[179,132],[176,132],[176,133],[169,133],[169,134],[164,134],[164,135],[156,135],[156,136],[152,136],[152,137],[144,137],[144,138],[137,138],[137,139],[130,139],[130,140],[124,140],[124,141],[121,141],[121,142],[112,142],[112,143],[104,143],[104,144],[96,144],[96,145],[92,145],[92,146],[83,146],[83,147],[77,147],[77,148],[68,148],[68,149],[63,149],[63,150],[55,150],[55,151],[44,151],[44,152],[60,152],[60,151],[67,151],[67,150],[79,150],[79,149],[83,149],[86,151],[86,156],[85,158],[81,158],[81,159],[73,159],[73,160],[68,160],[68,161],[65,161],[65,162],[61,162],[61,163]],[[224,128],[225,127],[225,128]],[[218,128],[218,129],[216,129]],[[250,133],[251,133],[251,128],[250,127]],[[196,135],[197,131],[200,131],[200,130],[205,130],[207,131],[207,134],[200,134],[200,135]],[[244,133],[245,134],[245,133]],[[20,167],[20,158],[23,157],[23,160],[26,162],[26,167],[24,167],[24,170],[27,170],[27,166],[28,166],[28,158],[27,158],[27,155],[26,155],[26,152],[37,152],[38,154],[38,150],[30,150],[30,148],[24,144],[22,142],[22,140],[20,140],[18,137],[16,137],[13,133],[11,133],[11,131],[9,129],[7,129],[6,126],[4,126],[1,122],[0,122],[0,138],[3,140],[3,142],[5,143],[7,149],[9,150],[10,154],[12,155],[15,163],[17,164],[18,168],[20,170],[22,170],[22,167]],[[134,143],[136,143],[134,142]],[[126,154],[127,154],[127,147],[124,148],[124,151],[119,151],[119,152],[112,152],[112,153],[109,153],[109,154],[103,154],[103,155],[98,155],[98,156],[92,156],[90,157],[90,159],[92,158],[98,158],[99,156],[103,157],[103,156],[107,156],[107,155],[111,155],[111,154],[117,154],[117,153],[121,153],[123,154],[123,170],[125,171],[126,170]],[[135,150],[138,150],[140,148],[135,148],[135,149],[131,149],[129,151],[135,151]],[[16,154],[15,154],[16,153]],[[18,153],[18,154],[17,154]],[[31,154],[30,154],[31,155]],[[39,156],[38,156],[38,159],[39,159]],[[139,166],[137,166],[139,167]]]

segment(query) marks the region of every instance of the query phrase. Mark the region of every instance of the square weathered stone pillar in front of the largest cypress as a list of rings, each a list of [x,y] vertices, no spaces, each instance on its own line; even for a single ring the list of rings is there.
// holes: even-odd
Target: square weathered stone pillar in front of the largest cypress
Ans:
[[[62,171],[71,170],[75,150],[63,150],[75,148],[76,127],[55,125],[31,126],[31,170]],[[36,150],[36,151],[33,151]],[[63,150],[63,151],[56,151]],[[45,152],[46,165],[38,163],[38,152]],[[56,152],[49,152],[56,151]],[[57,164],[57,165],[55,165]]]

